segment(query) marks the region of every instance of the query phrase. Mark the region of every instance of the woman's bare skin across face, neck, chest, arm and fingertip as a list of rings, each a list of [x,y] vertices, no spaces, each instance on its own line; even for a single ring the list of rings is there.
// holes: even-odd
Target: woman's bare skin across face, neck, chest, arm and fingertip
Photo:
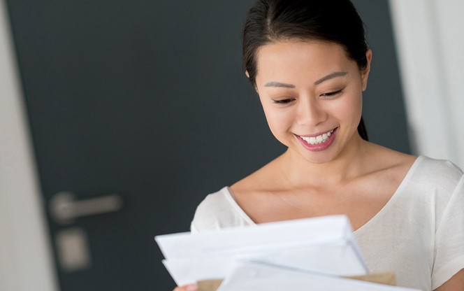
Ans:
[[[287,150],[230,187],[254,222],[345,214],[358,229],[396,191],[416,157],[359,136],[370,50],[366,57],[368,66],[360,69],[336,43],[282,40],[259,48],[255,89],[271,132]],[[298,138],[333,129],[323,150],[308,150]],[[464,271],[436,290],[464,291]]]

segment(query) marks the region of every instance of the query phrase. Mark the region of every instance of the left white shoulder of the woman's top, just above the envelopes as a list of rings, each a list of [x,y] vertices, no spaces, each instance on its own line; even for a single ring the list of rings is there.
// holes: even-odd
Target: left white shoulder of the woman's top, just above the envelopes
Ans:
[[[240,213],[238,205],[234,203],[229,187],[224,187],[218,192],[208,194],[201,201],[191,222],[191,231],[203,232],[247,224],[249,222]]]

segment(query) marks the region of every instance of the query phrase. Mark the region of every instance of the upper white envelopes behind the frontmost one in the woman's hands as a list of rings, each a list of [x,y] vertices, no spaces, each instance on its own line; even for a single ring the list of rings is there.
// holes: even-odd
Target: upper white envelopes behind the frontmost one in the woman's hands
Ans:
[[[340,276],[367,273],[345,215],[155,239],[178,285],[227,278],[238,262],[267,262]]]

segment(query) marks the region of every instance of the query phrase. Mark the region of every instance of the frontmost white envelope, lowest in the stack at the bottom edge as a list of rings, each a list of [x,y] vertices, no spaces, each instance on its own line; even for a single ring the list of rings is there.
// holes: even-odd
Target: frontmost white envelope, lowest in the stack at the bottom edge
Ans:
[[[217,291],[420,291],[335,276],[292,271],[266,264],[245,263],[224,280]]]

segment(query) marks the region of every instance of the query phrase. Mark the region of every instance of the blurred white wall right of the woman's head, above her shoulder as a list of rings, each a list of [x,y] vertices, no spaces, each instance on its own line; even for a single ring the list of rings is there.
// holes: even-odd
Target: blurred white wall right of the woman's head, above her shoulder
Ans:
[[[390,4],[414,150],[464,169],[464,1]]]

